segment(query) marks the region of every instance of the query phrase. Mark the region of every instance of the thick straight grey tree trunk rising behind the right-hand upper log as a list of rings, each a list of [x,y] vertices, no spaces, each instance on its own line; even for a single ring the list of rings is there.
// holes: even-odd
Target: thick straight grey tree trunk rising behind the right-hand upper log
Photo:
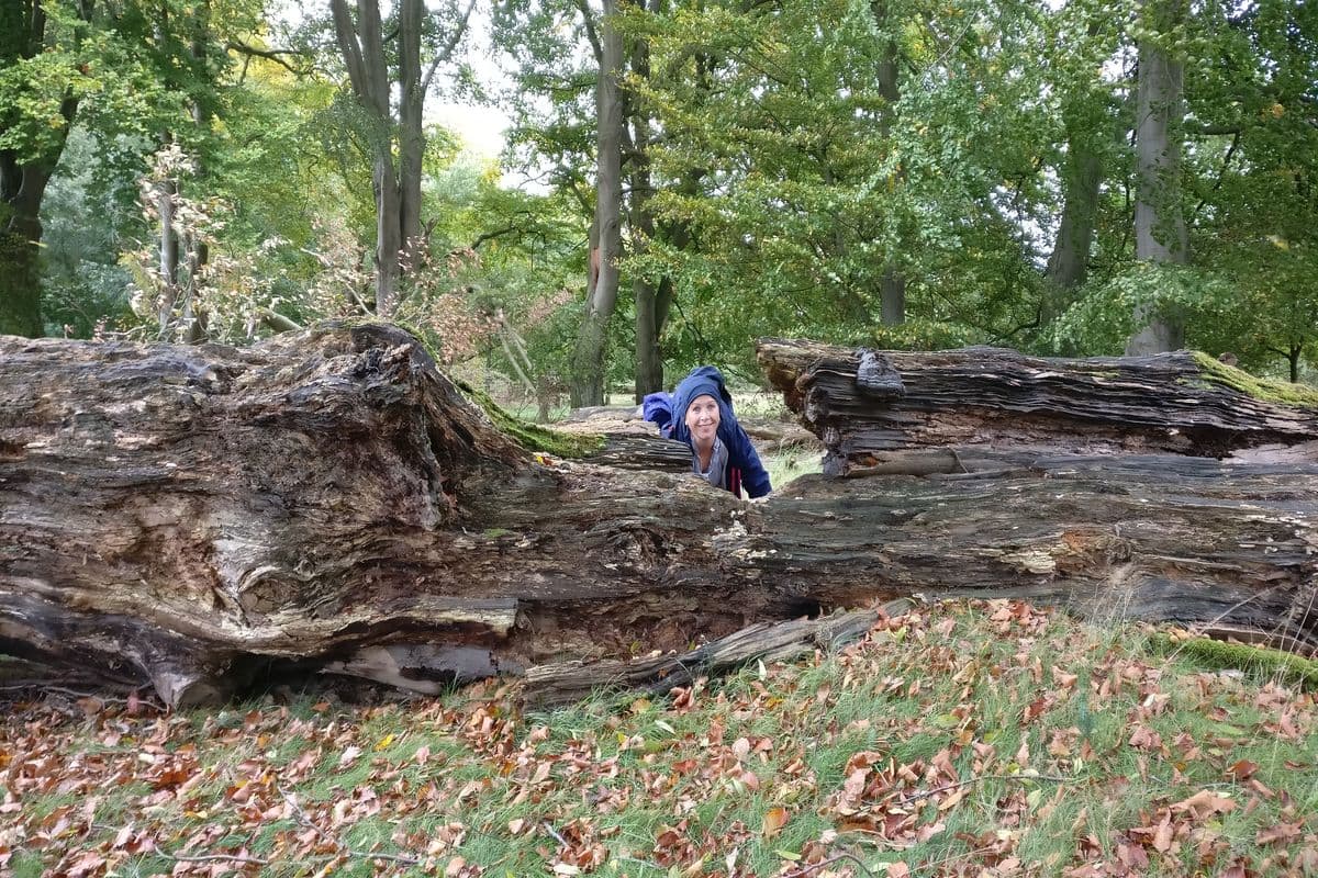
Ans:
[[[1135,258],[1185,265],[1189,244],[1181,207],[1182,72],[1181,62],[1161,41],[1170,38],[1188,13],[1184,0],[1144,0],[1143,13],[1155,36],[1140,41]],[[1130,355],[1178,350],[1185,344],[1182,320],[1153,303],[1136,305],[1135,325],[1126,344]]]

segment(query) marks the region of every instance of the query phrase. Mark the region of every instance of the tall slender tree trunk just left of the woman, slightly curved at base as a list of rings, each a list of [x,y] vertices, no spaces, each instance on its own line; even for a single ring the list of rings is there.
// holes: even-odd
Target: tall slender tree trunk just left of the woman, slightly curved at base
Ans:
[[[604,361],[609,319],[618,301],[618,257],[622,255],[622,33],[616,0],[604,0],[600,20],[600,82],[596,90],[596,224],[600,259],[594,287],[587,291],[585,315],[572,355],[572,405],[604,404]]]

